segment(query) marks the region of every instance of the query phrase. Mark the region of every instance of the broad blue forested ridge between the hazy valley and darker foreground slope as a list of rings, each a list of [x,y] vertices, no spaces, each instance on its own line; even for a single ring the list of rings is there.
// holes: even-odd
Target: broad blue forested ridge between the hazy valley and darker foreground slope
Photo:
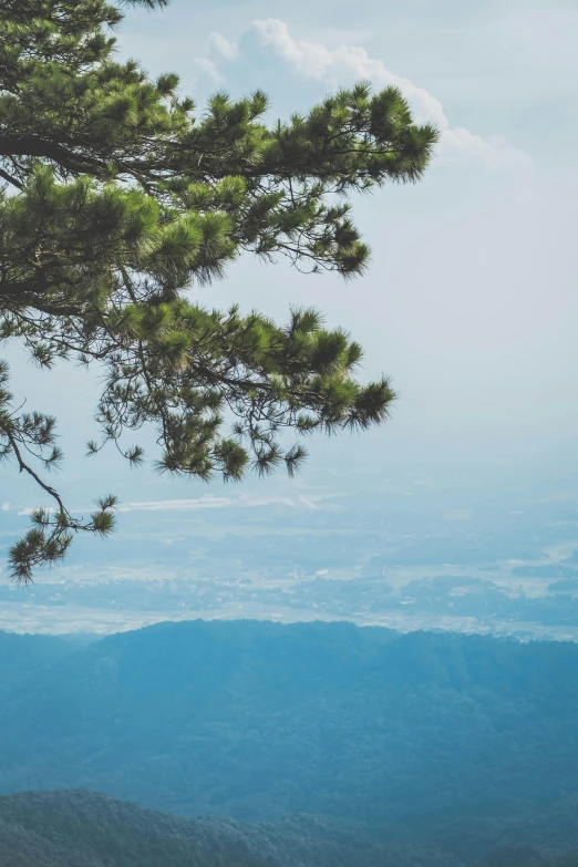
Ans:
[[[575,644],[196,621],[22,660],[0,712],[3,793],[314,815],[447,864],[578,846]]]

